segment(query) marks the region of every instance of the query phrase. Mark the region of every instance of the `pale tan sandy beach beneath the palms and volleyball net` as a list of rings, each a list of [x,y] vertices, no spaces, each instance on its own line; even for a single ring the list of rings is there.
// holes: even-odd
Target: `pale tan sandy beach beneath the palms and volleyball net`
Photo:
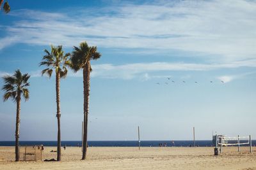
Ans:
[[[219,156],[212,147],[89,147],[87,159],[81,148],[62,149],[61,162],[14,162],[14,147],[0,147],[0,169],[256,169],[255,152],[248,147],[224,147]],[[44,147],[43,159],[56,159],[55,147]],[[21,157],[22,158],[22,157]]]

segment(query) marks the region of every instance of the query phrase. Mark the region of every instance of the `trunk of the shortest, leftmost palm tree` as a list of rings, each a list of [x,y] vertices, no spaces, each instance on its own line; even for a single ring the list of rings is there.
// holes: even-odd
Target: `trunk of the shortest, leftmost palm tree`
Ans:
[[[15,131],[15,161],[20,160],[19,137],[20,137],[20,92],[17,93],[16,131]]]

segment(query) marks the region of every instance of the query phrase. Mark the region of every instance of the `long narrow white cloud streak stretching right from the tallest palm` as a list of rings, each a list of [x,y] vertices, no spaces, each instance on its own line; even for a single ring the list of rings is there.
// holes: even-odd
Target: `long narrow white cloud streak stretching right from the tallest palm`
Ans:
[[[159,71],[211,71],[216,69],[230,69],[238,67],[256,67],[256,60],[248,60],[242,62],[228,62],[223,64],[193,64],[193,63],[172,63],[172,62],[150,62],[150,63],[134,63],[124,65],[113,64],[95,64],[92,66],[92,77],[99,78],[120,78],[130,80],[140,77],[141,80],[149,80],[151,78],[171,77],[169,75],[161,75]],[[157,74],[157,75],[156,75]],[[163,74],[163,73],[162,73]],[[75,76],[82,76],[79,72]],[[141,76],[142,75],[142,76]],[[188,76],[184,77],[188,78]]]

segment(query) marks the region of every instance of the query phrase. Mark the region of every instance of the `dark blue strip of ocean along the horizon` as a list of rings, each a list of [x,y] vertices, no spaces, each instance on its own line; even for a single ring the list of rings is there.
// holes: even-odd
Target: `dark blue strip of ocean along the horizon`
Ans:
[[[193,141],[141,141],[140,146],[193,146]],[[212,140],[196,141],[196,146],[213,146]],[[57,141],[20,141],[20,146],[44,145],[57,146]],[[61,141],[61,145],[81,146],[81,141]],[[138,146],[138,141],[88,141],[89,146]],[[252,140],[252,146],[256,145],[256,140]],[[15,146],[15,141],[0,141],[0,146]]]

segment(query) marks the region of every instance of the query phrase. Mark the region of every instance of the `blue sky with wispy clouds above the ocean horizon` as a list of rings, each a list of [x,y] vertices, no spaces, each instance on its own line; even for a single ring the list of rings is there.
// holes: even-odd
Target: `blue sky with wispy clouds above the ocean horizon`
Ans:
[[[15,1],[0,11],[0,77],[29,73],[20,140],[56,140],[55,79],[44,49],[86,41],[92,61],[89,140],[255,136],[255,1]],[[212,81],[212,82],[211,82]],[[83,74],[61,80],[61,139],[81,140]],[[3,79],[0,80],[3,87]],[[4,94],[0,91],[0,96]],[[0,100],[0,141],[15,140],[12,100]]]

